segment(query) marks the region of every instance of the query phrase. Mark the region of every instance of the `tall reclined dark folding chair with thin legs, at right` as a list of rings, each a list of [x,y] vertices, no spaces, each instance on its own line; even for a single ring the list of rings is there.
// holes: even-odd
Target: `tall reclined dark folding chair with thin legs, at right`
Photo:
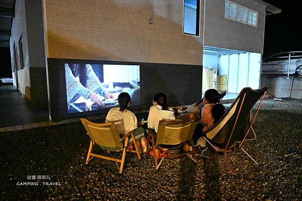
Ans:
[[[267,91],[267,87],[259,90],[253,90],[245,87],[241,90],[235,102],[225,112],[223,117],[211,128],[203,133],[203,137],[199,138],[197,143],[203,144],[204,140],[209,143],[216,154],[221,154],[230,172],[234,175],[224,154],[232,151],[235,142],[239,142],[239,148],[246,153],[257,165],[258,163],[242,148],[244,142],[256,139],[256,133],[252,126],[258,115],[263,98]],[[257,111],[251,118],[251,110],[261,97]],[[250,132],[252,130],[252,132]],[[213,155],[214,156],[214,155]]]

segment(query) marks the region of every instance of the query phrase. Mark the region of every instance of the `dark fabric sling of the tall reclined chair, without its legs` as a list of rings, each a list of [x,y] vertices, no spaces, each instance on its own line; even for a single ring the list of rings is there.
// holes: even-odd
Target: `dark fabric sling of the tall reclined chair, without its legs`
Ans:
[[[259,90],[253,90],[250,87],[243,88],[223,117],[212,129],[205,132],[206,137],[214,145],[224,149],[227,149],[236,141],[242,141],[250,129],[250,111],[266,91],[267,87]]]

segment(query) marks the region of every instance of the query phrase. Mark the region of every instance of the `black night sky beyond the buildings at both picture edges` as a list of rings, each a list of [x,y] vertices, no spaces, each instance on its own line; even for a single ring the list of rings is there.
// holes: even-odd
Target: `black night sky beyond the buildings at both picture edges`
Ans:
[[[287,51],[302,51],[302,1],[265,0],[282,13],[266,16],[263,57]],[[11,73],[10,49],[0,47],[0,76]]]

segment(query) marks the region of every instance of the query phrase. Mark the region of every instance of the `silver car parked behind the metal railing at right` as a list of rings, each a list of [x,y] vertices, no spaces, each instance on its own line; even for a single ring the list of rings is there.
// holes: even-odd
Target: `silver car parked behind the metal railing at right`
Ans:
[[[263,59],[261,74],[302,76],[302,51],[282,52]]]

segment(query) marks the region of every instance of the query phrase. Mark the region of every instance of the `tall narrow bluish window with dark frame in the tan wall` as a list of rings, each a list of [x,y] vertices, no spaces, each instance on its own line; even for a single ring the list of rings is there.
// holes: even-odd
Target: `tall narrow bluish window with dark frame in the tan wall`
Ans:
[[[183,33],[199,36],[200,0],[184,0]]]

